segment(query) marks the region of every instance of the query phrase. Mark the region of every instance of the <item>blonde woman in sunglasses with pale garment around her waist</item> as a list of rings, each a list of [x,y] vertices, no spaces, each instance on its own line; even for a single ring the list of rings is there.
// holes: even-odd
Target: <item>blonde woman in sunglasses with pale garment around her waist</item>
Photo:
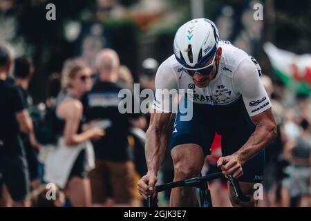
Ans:
[[[57,97],[59,142],[45,164],[46,182],[53,182],[72,206],[91,206],[88,171],[94,168],[93,147],[88,140],[104,135],[101,128],[82,131],[83,106],[79,99],[91,89],[91,69],[83,61],[67,61],[62,72],[62,91]]]

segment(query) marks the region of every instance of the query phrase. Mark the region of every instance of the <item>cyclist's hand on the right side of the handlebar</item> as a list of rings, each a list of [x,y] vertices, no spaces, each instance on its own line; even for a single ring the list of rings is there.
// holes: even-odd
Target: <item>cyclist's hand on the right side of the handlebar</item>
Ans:
[[[223,171],[223,174],[230,175],[236,179],[243,175],[242,164],[240,160],[238,160],[237,155],[229,155],[225,157],[220,157],[217,161],[217,166]]]

